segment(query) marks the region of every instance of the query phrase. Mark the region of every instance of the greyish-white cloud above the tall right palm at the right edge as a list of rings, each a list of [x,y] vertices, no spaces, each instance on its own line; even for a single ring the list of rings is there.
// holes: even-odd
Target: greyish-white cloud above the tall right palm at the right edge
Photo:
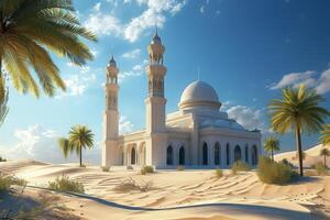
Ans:
[[[318,94],[327,94],[330,91],[330,68],[324,70],[319,78],[316,72],[307,70],[304,73],[292,73],[284,75],[277,84],[271,85],[270,89],[282,89],[288,86],[298,87],[304,84],[308,88],[314,88]]]

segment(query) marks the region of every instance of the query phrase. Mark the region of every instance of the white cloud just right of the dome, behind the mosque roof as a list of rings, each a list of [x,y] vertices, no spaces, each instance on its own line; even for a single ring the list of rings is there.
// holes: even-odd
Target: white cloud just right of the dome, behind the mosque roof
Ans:
[[[228,117],[237,120],[248,130],[260,129],[264,130],[262,110],[254,110],[245,106],[234,106],[227,110]]]

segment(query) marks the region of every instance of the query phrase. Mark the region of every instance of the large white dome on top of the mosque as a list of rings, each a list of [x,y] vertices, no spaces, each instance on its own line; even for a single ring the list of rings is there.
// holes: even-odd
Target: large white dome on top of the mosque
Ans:
[[[182,110],[196,108],[219,110],[220,107],[221,103],[213,87],[199,80],[185,88],[179,102]]]

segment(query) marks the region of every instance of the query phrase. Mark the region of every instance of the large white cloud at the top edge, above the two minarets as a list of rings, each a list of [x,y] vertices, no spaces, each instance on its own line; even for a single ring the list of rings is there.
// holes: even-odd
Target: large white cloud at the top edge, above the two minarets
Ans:
[[[107,0],[118,7],[117,0]],[[123,3],[129,3],[125,0]],[[138,16],[123,24],[113,12],[102,13],[100,2],[94,7],[92,13],[85,22],[85,26],[99,35],[123,36],[130,42],[135,42],[145,30],[156,24],[162,28],[166,21],[166,14],[175,15],[186,4],[186,0],[136,0],[140,7],[146,9]]]

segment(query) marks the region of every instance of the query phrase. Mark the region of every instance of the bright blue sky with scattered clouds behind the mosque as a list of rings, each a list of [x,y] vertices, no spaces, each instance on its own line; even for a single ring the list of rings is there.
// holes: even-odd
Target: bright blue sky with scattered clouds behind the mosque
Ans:
[[[184,88],[198,77],[218,91],[223,111],[248,129],[270,135],[266,106],[280,88],[305,82],[330,108],[330,1],[327,0],[76,0],[81,23],[98,43],[85,67],[58,64],[68,90],[53,99],[19,95],[10,87],[10,112],[0,128],[0,154],[61,162],[56,139],[87,124],[101,140],[105,67],[114,55],[120,75],[121,131],[145,121],[146,46],[157,23],[166,46],[167,112],[177,110]],[[329,122],[329,120],[328,120]],[[294,150],[292,133],[278,136]],[[318,134],[304,135],[304,147]],[[98,162],[99,144],[86,155]]]

